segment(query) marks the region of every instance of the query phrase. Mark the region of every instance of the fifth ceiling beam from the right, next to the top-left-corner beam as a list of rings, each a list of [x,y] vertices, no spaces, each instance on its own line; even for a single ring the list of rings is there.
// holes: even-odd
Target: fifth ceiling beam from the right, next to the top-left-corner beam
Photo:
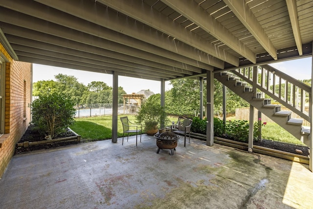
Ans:
[[[90,4],[90,1],[81,1],[80,3],[77,3],[76,0],[38,1],[83,20],[96,23],[113,31],[133,37],[134,39],[141,40],[142,42],[150,45],[182,55],[187,57],[187,59],[191,58],[210,66],[222,69],[224,68],[224,62],[222,60],[210,56],[192,46],[181,43],[176,39],[168,37],[166,34],[152,30],[150,27],[147,27],[142,23],[138,23],[131,18],[120,15],[107,6],[97,3],[97,1],[94,2],[94,4]],[[99,14],[102,14],[102,18],[99,18]],[[101,36],[101,33],[99,33],[99,35]]]

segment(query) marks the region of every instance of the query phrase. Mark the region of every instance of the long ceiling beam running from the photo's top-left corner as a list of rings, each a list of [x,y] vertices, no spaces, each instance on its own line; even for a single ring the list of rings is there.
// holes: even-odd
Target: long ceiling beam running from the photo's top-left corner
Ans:
[[[198,62],[191,57],[185,57],[177,53],[170,52],[168,50],[162,49],[160,47],[150,45],[148,43],[142,42],[140,40],[134,39],[132,37],[126,36],[124,34],[118,33],[116,31],[109,30],[105,27],[101,27],[100,25],[97,25],[95,23],[90,23],[86,20],[82,20],[80,18],[77,18],[75,16],[66,14],[62,11],[49,8],[48,6],[45,6],[41,3],[38,3],[36,1],[26,1],[26,0],[2,0],[0,2],[0,5],[5,4],[10,9],[13,9],[15,11],[18,11],[19,13],[15,12],[15,15],[18,17],[20,16],[20,12],[27,14],[31,17],[36,17],[38,19],[42,19],[51,23],[56,23],[68,28],[72,28],[81,32],[88,33],[90,35],[94,35],[97,37],[101,37],[103,39],[113,41],[125,46],[134,47],[137,49],[144,50],[146,52],[156,54],[158,56],[163,56],[168,59],[176,60],[177,62],[180,62],[180,66],[184,68],[184,66],[195,66],[197,68],[206,69],[206,70],[212,70],[212,66],[217,68],[224,68],[224,62],[221,60],[218,60],[216,58],[210,59],[212,66],[208,64],[204,64],[203,62]],[[13,15],[12,10],[5,10],[3,11],[3,14]],[[27,18],[25,16],[25,18]],[[28,17],[30,19],[30,17]],[[30,20],[31,21],[31,20]],[[48,25],[48,23],[42,22],[45,25]],[[194,50],[192,50],[190,53],[194,53]],[[196,53],[194,53],[195,55]],[[200,56],[198,56],[199,58]],[[183,63],[187,64],[184,65]]]

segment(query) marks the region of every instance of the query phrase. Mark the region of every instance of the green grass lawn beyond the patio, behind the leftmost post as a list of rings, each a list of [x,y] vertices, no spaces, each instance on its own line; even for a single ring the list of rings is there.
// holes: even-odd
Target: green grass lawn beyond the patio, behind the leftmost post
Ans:
[[[117,121],[117,136],[123,136],[123,126],[119,115]],[[135,122],[134,115],[127,115],[131,122]],[[170,121],[177,122],[177,118],[170,117]],[[75,118],[75,123],[70,127],[75,133],[81,135],[83,142],[112,139],[112,116]],[[144,127],[143,127],[144,128]],[[135,134],[130,134],[130,136]]]

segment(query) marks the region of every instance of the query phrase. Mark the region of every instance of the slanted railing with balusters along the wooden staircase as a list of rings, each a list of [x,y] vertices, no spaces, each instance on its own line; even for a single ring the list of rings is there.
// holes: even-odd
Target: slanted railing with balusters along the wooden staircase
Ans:
[[[310,105],[305,107],[306,102],[312,102],[310,86],[269,65],[236,69],[231,72],[252,86],[255,97],[258,96],[257,90],[264,92],[300,117],[311,121]]]

